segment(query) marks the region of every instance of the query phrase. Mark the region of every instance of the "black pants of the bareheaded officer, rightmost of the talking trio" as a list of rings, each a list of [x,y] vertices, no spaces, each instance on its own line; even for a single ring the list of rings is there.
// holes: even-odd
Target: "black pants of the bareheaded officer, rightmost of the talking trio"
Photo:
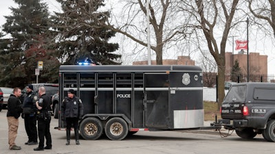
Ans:
[[[43,118],[38,118],[39,127],[39,148],[44,148],[44,137],[46,138],[46,146],[52,147],[52,136],[50,133],[50,123],[51,117],[44,120]]]

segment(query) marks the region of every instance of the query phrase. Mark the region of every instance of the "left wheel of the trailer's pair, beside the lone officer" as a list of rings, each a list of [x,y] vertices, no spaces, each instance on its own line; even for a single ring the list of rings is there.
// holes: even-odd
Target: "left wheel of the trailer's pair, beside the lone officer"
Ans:
[[[80,135],[85,140],[96,140],[103,132],[102,123],[98,118],[85,118],[80,123]]]

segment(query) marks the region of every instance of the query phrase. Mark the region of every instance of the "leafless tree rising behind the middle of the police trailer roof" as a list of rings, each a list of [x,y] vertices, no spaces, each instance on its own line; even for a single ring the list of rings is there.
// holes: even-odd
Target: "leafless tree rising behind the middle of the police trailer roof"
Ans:
[[[150,29],[146,27],[146,1],[127,0],[120,1],[120,3],[125,5],[121,12],[116,14],[117,16],[113,14],[113,21],[109,23],[109,28],[131,38],[144,48],[148,45],[146,37],[147,31],[150,30],[151,49],[155,52],[157,64],[162,65],[164,48],[169,49],[169,42],[184,38],[181,27],[179,27],[181,22],[175,22],[178,13],[175,12],[173,0],[149,1]]]

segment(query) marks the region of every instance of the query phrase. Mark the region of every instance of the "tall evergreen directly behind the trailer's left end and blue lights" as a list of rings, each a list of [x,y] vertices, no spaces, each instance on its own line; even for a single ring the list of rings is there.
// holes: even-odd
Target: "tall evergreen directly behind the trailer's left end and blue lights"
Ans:
[[[117,43],[109,43],[115,32],[100,26],[109,18],[109,12],[98,12],[102,0],[57,0],[63,13],[56,13],[58,43],[56,49],[63,64],[77,64],[86,59],[98,64],[120,64],[121,55],[113,53]],[[100,22],[100,23],[99,23]]]

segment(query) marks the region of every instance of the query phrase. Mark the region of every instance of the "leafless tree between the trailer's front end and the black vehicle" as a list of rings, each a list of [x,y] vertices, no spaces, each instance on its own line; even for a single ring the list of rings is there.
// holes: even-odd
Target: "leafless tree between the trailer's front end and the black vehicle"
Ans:
[[[232,20],[239,0],[186,0],[179,1],[182,12],[188,12],[192,23],[190,27],[201,29],[208,50],[214,57],[218,66],[218,107],[221,106],[224,93],[225,81],[225,45],[228,34],[234,23]],[[237,21],[236,21],[237,22]],[[201,43],[201,42],[198,42]]]

